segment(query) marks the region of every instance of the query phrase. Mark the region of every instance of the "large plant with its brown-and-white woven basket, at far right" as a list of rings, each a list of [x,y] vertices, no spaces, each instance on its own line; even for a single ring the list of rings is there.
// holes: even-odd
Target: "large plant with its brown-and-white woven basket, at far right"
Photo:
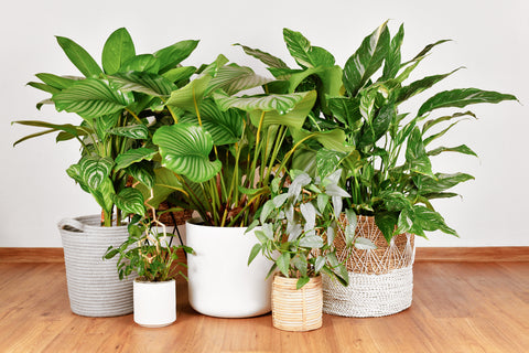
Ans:
[[[270,72],[284,82],[274,86],[282,87],[281,92],[317,92],[304,129],[294,137],[299,140],[312,133],[316,138],[305,141],[294,167],[307,165],[313,173],[343,169],[339,185],[352,195],[345,208],[358,215],[357,235],[377,245],[375,250],[358,250],[336,244],[337,254],[346,253],[349,258],[350,286],[324,284],[324,310],[328,313],[376,317],[411,304],[413,236],[425,237],[433,231],[456,235],[432,200],[456,196],[451,189],[474,179],[467,173],[432,169],[433,159],[441,153],[476,156],[466,145],[439,143],[451,128],[475,115],[468,110],[445,114],[442,109],[516,99],[497,92],[457,88],[434,94],[417,111],[399,111],[402,103],[458,69],[409,82],[411,72],[432,49],[446,41],[429,44],[403,61],[403,33],[401,25],[391,36],[387,23],[381,24],[364,39],[343,68],[330,52],[312,46],[301,33],[288,29],[283,30],[284,41],[300,68],[289,68],[269,56],[263,60],[260,51],[242,46],[248,54],[272,63]],[[348,224],[347,217],[342,220]],[[335,242],[343,244],[343,237],[338,234]],[[368,290],[360,292],[357,288]]]

